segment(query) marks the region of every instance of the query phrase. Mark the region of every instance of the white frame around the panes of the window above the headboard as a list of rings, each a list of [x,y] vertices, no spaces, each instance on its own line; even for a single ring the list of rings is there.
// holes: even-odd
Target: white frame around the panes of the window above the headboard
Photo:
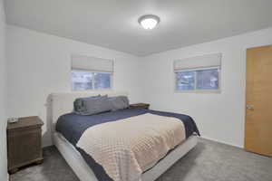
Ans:
[[[110,79],[110,88],[109,89],[94,89],[94,76],[92,76],[92,88],[91,90],[74,90],[73,89],[73,77],[72,77],[72,71],[85,71],[85,72],[91,72],[91,73],[109,73],[111,74],[111,79]],[[108,72],[108,71],[91,71],[91,70],[80,70],[80,69],[72,69],[70,71],[70,82],[71,82],[71,90],[72,91],[103,91],[103,90],[113,90],[113,72]]]

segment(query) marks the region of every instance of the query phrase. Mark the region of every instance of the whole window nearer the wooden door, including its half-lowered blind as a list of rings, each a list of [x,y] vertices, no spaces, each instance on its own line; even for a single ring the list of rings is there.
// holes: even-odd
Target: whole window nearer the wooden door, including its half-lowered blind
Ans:
[[[174,61],[175,90],[219,92],[221,53]]]

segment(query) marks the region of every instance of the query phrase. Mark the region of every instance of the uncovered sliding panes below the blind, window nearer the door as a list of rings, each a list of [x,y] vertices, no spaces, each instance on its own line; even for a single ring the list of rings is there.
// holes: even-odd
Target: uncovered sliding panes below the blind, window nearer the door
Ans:
[[[219,68],[176,71],[176,90],[219,90]]]

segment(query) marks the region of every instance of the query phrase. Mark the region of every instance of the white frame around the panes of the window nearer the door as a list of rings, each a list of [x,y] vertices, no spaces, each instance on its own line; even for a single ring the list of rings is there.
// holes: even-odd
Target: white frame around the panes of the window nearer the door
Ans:
[[[217,90],[199,90],[197,89],[197,84],[198,84],[198,78],[197,78],[197,71],[208,71],[208,70],[213,70],[217,69],[219,71],[219,89]],[[177,89],[177,72],[180,71],[194,71],[194,90],[178,90]],[[206,67],[206,68],[198,68],[198,69],[184,69],[180,71],[174,71],[174,92],[175,93],[221,93],[221,67],[216,66],[216,67]]]

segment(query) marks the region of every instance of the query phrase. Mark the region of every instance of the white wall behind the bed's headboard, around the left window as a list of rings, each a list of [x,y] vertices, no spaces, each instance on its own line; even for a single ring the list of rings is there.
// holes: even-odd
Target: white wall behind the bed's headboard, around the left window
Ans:
[[[113,59],[114,90],[127,90],[131,102],[141,101],[138,57],[8,25],[8,116],[37,115],[45,122],[47,96],[71,91],[72,53]],[[44,146],[51,144],[48,126],[45,122]]]

